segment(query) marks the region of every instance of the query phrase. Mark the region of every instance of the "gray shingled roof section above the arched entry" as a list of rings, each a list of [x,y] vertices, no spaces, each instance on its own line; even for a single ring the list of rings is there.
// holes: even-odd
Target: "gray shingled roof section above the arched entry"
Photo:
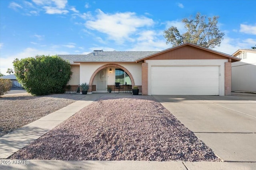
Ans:
[[[157,53],[158,51],[98,51],[87,55],[58,55],[70,64],[82,62],[135,62],[137,59]]]

